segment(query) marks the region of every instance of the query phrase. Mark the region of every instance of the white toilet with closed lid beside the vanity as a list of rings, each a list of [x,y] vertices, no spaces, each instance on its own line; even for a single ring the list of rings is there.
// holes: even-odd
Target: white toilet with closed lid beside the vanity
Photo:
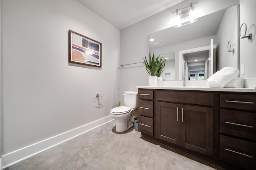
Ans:
[[[124,92],[124,105],[111,109],[110,115],[116,119],[116,131],[124,132],[132,127],[132,111],[138,107],[138,92]]]

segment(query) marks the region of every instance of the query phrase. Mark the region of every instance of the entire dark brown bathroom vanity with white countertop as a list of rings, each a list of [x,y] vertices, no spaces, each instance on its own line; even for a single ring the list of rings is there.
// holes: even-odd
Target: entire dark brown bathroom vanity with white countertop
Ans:
[[[214,168],[256,166],[256,89],[138,86],[142,139]]]

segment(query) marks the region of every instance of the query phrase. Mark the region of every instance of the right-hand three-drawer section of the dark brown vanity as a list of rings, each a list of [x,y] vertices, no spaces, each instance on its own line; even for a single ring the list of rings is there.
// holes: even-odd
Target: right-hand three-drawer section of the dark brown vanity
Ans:
[[[220,94],[220,159],[256,167],[256,95]]]

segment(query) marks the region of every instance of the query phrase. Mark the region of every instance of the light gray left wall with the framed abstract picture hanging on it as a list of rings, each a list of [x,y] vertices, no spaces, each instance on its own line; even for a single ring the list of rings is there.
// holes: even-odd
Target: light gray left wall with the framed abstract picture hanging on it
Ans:
[[[110,116],[119,30],[76,0],[1,3],[2,154]],[[69,29],[102,43],[102,68],[68,63]]]

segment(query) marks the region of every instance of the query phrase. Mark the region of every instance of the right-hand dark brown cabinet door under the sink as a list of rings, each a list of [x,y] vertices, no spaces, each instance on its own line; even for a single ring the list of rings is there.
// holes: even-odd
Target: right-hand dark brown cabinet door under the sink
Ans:
[[[213,155],[213,109],[181,106],[180,145],[202,154]]]

